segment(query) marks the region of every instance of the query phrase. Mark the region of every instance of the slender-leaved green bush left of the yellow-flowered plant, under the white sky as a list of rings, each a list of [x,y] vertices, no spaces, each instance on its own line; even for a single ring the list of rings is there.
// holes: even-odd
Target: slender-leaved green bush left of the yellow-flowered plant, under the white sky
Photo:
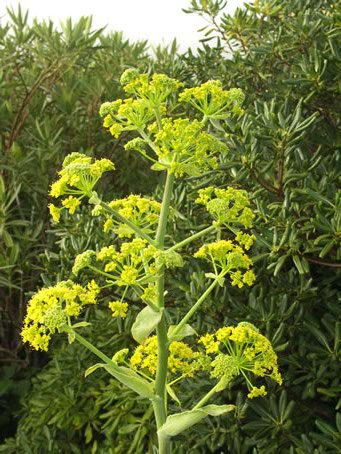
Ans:
[[[0,26],[0,425],[9,428],[10,409],[25,389],[22,375],[31,375],[27,366],[38,361],[18,333],[25,294],[41,285],[44,250],[54,249],[49,185],[72,150],[116,155],[119,144],[105,140],[99,106],[108,93],[121,95],[117,78],[127,66],[148,66],[150,57],[146,42],[93,31],[91,18],[68,20],[61,30],[52,22],[29,25],[20,8],[7,18]],[[134,156],[120,153],[115,160],[121,168],[129,160],[135,177],[147,184]],[[109,183],[124,194],[134,181],[130,173],[116,172],[115,184]]]

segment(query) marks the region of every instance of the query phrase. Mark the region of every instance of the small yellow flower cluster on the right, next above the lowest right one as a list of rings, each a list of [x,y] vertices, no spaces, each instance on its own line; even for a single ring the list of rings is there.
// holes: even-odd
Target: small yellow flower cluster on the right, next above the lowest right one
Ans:
[[[229,275],[231,284],[239,288],[244,284],[252,285],[256,279],[253,271],[249,270],[252,260],[243,248],[231,240],[220,240],[210,244],[204,244],[194,257],[202,258],[212,263],[215,275],[221,277]],[[247,270],[244,274],[242,270]]]

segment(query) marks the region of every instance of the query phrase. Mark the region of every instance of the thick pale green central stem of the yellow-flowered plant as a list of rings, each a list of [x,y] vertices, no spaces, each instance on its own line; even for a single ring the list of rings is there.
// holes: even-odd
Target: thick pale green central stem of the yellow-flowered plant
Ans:
[[[165,242],[165,234],[167,228],[167,220],[169,214],[170,200],[172,197],[174,176],[167,174],[167,180],[163,193],[163,200],[161,205],[161,212],[159,224],[156,233],[156,246],[163,250]],[[157,304],[160,309],[164,308],[164,269],[161,270],[160,276],[157,280]],[[156,328],[157,344],[158,344],[158,358],[157,358],[157,371],[155,377],[155,396],[156,399],[153,403],[154,413],[157,428],[159,429],[167,418],[167,365],[168,365],[168,336],[165,315],[163,311],[160,323]],[[159,454],[168,454],[170,452],[170,441],[168,439],[159,438]]]

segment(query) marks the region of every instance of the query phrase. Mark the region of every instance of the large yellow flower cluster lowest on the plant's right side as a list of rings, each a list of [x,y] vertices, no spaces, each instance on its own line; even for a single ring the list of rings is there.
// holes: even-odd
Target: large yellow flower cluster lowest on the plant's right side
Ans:
[[[236,327],[225,326],[213,334],[202,336],[199,343],[212,358],[211,376],[226,379],[228,385],[234,377],[243,375],[251,390],[248,394],[250,398],[266,395],[264,386],[253,386],[250,373],[282,383],[277,355],[271,342],[251,323],[241,322]]]

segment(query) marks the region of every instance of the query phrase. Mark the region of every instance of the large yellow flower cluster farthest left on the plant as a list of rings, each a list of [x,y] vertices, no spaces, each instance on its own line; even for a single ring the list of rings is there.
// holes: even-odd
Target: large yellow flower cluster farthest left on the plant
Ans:
[[[21,331],[24,342],[36,350],[47,351],[51,335],[62,332],[68,317],[77,317],[82,308],[96,304],[99,287],[92,281],[82,287],[72,281],[39,290],[28,302]]]

